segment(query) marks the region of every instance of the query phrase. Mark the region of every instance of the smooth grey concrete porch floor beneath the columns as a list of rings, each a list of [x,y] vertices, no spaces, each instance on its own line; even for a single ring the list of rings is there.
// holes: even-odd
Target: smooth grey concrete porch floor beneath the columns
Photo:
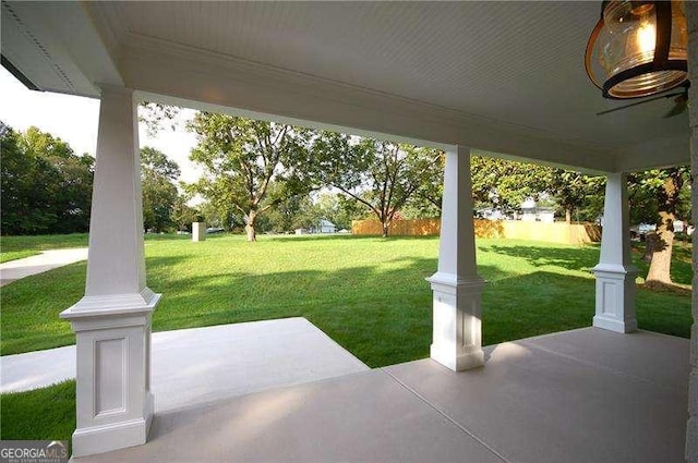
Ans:
[[[156,414],[108,462],[683,462],[688,341],[595,328]]]

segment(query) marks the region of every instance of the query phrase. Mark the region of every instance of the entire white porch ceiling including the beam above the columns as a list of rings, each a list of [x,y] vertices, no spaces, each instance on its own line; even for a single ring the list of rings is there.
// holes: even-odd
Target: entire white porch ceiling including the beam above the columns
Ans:
[[[619,105],[583,70],[599,10],[597,2],[3,2],[2,53],[48,90],[98,96],[96,83],[123,83],[190,107],[587,170],[688,162],[687,115],[662,119],[671,100],[595,115]],[[19,34],[17,21],[38,40]]]

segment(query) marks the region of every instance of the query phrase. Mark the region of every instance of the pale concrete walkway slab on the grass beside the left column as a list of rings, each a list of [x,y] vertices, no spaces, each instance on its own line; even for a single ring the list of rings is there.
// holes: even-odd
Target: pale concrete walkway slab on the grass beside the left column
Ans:
[[[153,333],[157,412],[369,367],[304,318]],[[2,392],[75,377],[75,346],[0,357]]]

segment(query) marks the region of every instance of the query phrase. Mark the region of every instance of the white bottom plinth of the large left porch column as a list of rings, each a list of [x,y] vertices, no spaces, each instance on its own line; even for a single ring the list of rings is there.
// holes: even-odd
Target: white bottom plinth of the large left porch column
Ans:
[[[76,429],[73,432],[72,456],[80,458],[144,444],[153,423],[154,410],[155,399],[148,393],[142,418]]]

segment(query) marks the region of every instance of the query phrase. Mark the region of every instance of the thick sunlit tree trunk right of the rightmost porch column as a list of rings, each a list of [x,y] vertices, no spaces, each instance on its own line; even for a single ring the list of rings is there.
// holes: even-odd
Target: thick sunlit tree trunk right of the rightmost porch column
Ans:
[[[672,284],[671,265],[672,247],[674,244],[674,220],[676,219],[676,206],[678,193],[683,181],[677,169],[671,172],[664,185],[657,196],[659,200],[659,222],[657,223],[655,242],[652,243],[652,260],[645,279],[648,287],[662,287]]]

